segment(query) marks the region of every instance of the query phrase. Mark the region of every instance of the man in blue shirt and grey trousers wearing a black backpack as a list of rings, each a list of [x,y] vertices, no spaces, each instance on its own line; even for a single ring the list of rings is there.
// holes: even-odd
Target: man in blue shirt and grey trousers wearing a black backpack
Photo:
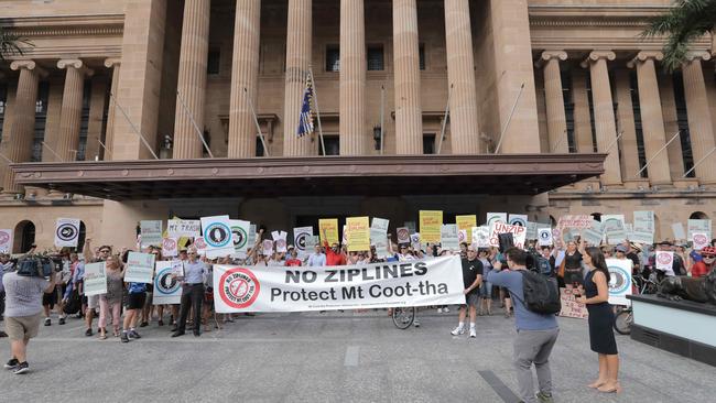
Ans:
[[[513,344],[514,367],[520,396],[527,403],[536,402],[538,399],[542,403],[553,402],[550,353],[557,340],[560,326],[554,315],[538,314],[524,306],[521,271],[527,270],[527,252],[518,248],[510,248],[505,254],[510,270],[501,271],[501,263],[496,263],[493,270],[487,274],[487,282],[507,287],[512,296],[517,327],[517,338]],[[536,369],[540,384],[536,399],[532,384],[532,363]]]

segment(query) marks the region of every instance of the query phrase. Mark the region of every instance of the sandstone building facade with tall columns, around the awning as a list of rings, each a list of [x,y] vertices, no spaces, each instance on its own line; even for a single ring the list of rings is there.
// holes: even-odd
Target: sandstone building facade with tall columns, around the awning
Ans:
[[[57,217],[82,219],[86,237],[131,246],[139,219],[171,215],[230,214],[292,228],[332,215],[402,224],[423,208],[527,211],[543,222],[565,214],[630,220],[648,209],[658,237],[672,237],[672,222],[716,215],[716,47],[703,37],[680,70],[665,73],[662,42],[639,34],[670,3],[3,1],[0,24],[33,46],[0,64],[0,227],[15,230],[19,252],[32,239],[50,247]],[[323,139],[318,130],[295,135],[308,72]],[[607,157],[600,177],[538,196],[478,188],[132,202],[21,186],[7,164],[324,151]]]

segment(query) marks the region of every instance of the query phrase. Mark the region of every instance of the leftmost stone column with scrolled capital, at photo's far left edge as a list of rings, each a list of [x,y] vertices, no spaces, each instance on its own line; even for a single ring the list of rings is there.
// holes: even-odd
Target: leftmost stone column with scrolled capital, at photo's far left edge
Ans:
[[[13,70],[20,70],[15,105],[13,107],[10,133],[3,133],[2,143],[7,144],[4,156],[14,163],[28,162],[32,157],[32,142],[35,129],[35,102],[41,76],[46,76],[34,61],[15,61],[10,64]],[[4,164],[4,162],[3,162]],[[22,188],[14,184],[12,171],[4,170],[3,193],[19,193]]]

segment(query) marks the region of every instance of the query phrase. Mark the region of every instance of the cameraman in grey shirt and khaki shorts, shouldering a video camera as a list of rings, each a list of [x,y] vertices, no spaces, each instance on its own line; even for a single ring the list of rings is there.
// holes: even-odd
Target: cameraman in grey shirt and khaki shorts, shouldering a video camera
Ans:
[[[50,274],[50,281],[42,276],[7,273],[2,277],[6,290],[6,331],[10,338],[12,358],[4,367],[13,373],[30,370],[25,351],[30,339],[37,336],[42,317],[42,297],[54,292],[57,273]]]

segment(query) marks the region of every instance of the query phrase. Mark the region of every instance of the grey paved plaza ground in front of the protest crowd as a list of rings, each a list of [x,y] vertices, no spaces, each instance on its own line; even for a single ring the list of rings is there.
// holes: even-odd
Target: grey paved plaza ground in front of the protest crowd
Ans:
[[[397,329],[384,311],[241,316],[195,338],[166,326],[141,340],[85,337],[53,320],[31,342],[32,372],[0,372],[3,402],[516,402],[513,319],[478,317],[478,337],[453,337],[455,309]],[[618,336],[620,395],[596,377],[587,324],[560,319],[552,355],[556,402],[716,401],[716,368]],[[7,339],[0,357],[9,358]]]

